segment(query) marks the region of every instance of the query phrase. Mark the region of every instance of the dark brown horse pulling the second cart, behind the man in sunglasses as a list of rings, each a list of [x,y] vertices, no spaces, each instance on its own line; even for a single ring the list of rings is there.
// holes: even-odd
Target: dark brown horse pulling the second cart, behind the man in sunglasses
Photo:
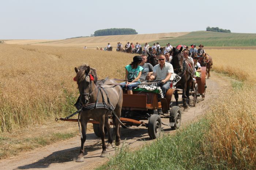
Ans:
[[[182,101],[184,109],[188,108],[189,101],[189,90],[193,83],[193,75],[195,74],[194,63],[190,60],[184,60],[182,55],[182,47],[180,50],[177,50],[175,47],[170,51],[170,54],[173,56],[171,64],[173,65],[174,73],[181,77],[180,81],[176,84],[177,88],[181,88],[182,92]],[[176,106],[178,106],[178,92],[174,92],[174,97],[176,99]]]

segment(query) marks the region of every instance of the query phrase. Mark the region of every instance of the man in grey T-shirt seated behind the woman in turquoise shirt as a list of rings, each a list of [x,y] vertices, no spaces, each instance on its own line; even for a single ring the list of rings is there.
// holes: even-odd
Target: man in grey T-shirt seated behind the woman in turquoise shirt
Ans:
[[[140,55],[142,57],[142,62],[140,66],[142,66],[143,70],[140,76],[140,80],[148,80],[150,75],[153,73],[154,67],[150,63],[147,62],[147,56],[145,54]]]

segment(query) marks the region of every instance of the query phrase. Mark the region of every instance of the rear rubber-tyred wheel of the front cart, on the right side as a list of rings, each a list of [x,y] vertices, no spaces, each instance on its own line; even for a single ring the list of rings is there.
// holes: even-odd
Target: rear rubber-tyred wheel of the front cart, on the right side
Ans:
[[[170,123],[174,123],[174,126],[171,126],[172,129],[179,129],[181,125],[181,111],[180,107],[173,106],[170,110]]]

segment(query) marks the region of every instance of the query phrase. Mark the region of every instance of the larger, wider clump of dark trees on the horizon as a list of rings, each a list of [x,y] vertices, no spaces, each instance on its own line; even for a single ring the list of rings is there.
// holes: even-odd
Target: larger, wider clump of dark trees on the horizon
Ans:
[[[138,34],[135,29],[131,28],[110,28],[110,29],[100,29],[94,32],[94,36],[104,36],[104,35],[131,35]]]

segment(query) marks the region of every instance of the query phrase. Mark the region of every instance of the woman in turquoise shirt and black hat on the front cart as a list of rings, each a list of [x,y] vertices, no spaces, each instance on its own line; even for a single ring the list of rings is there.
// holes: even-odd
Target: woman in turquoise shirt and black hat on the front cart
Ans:
[[[143,70],[139,64],[142,61],[141,56],[134,56],[133,62],[127,66],[125,66],[125,80],[126,82],[123,82],[121,84],[124,84],[124,87],[127,87],[127,94],[132,94],[132,88],[137,87],[136,84],[139,84],[140,75]]]

